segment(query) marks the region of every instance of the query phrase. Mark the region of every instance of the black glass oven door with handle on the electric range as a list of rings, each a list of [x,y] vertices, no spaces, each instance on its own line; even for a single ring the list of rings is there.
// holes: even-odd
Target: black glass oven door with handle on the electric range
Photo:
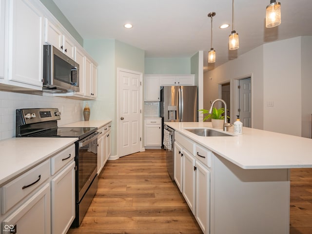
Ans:
[[[98,135],[92,135],[76,142],[76,201],[79,202],[94,177],[98,167]]]

